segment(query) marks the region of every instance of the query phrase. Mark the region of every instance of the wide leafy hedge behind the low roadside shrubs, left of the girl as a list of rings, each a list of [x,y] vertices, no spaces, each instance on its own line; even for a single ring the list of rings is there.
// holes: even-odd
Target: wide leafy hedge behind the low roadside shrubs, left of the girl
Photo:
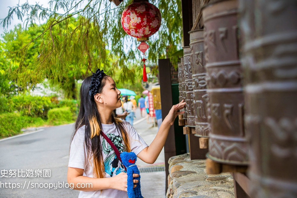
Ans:
[[[50,97],[20,94],[11,99],[11,110],[34,118],[47,118],[48,111],[54,107]]]

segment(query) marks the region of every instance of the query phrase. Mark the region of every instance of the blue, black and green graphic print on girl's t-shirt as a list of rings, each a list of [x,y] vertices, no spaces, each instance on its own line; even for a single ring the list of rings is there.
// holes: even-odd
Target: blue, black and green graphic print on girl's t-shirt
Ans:
[[[115,135],[113,133],[106,134],[107,137],[113,142],[116,148],[119,150],[120,153],[124,152],[124,144],[123,139],[119,135]],[[125,172],[123,164],[119,167],[119,159],[116,156],[116,153],[113,151],[111,146],[106,142],[105,139],[102,141],[102,148],[103,152],[107,155],[104,160],[104,168],[105,172],[113,176],[113,173],[119,174],[120,172]]]

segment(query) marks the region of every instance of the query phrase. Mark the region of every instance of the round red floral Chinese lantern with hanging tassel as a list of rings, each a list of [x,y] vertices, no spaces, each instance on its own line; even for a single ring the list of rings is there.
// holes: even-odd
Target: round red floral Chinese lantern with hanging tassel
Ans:
[[[136,37],[140,41],[138,49],[143,53],[143,81],[146,82],[145,68],[145,52],[149,48],[145,42],[149,37],[155,34],[161,25],[160,10],[147,1],[139,1],[127,6],[121,18],[121,23],[124,31],[132,37]]]

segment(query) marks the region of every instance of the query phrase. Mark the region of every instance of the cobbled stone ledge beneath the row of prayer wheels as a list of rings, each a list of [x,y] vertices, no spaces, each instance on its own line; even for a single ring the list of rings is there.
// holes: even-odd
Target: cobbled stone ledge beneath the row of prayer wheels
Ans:
[[[230,173],[206,174],[206,160],[191,160],[189,153],[168,160],[166,198],[234,198]]]

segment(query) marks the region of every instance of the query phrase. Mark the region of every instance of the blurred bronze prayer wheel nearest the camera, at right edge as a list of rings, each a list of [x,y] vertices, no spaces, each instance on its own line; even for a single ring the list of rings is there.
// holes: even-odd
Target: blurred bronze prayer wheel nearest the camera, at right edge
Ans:
[[[297,197],[297,3],[240,3],[251,197]]]

